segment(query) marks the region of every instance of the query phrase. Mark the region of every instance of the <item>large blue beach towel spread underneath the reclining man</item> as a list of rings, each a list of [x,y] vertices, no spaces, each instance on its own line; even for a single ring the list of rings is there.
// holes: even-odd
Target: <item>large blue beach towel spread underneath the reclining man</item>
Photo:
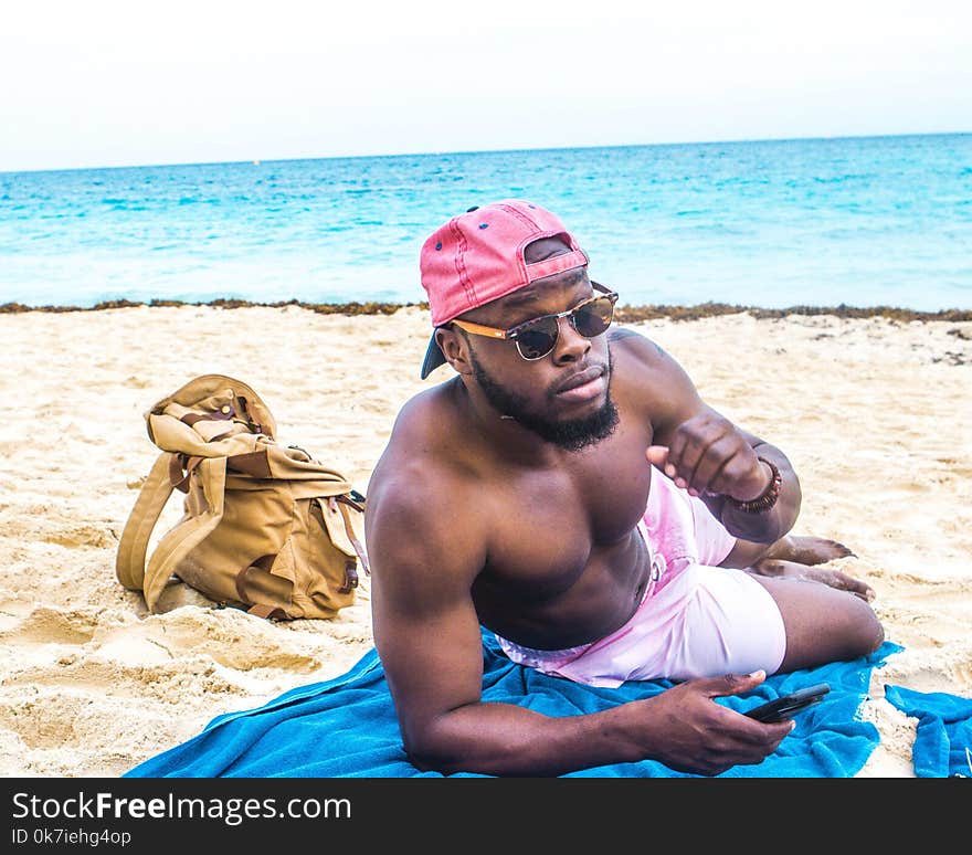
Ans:
[[[901,647],[885,642],[871,656],[778,675],[746,697],[718,703],[744,711],[814,683],[831,692],[800,712],[796,728],[758,766],[725,778],[852,778],[877,747],[877,728],[857,717],[871,671]],[[592,688],[513,663],[483,632],[483,700],[517,704],[550,716],[594,712],[651,697],[669,680]],[[123,778],[442,778],[412,766],[402,748],[391,695],[372,648],[346,674],[292,689],[256,709],[218,716],[198,736],[135,767]],[[484,778],[463,774],[454,777]],[[643,760],[566,777],[689,778]]]

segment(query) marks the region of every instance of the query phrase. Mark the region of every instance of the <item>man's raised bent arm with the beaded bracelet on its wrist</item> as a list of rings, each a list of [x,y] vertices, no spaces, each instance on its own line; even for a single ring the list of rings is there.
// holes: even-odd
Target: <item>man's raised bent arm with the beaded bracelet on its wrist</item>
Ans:
[[[699,496],[738,538],[771,543],[790,531],[802,494],[786,455],[702,401],[682,366],[655,342],[632,330],[617,330],[612,342],[638,363],[635,373],[642,379],[636,394],[653,429],[648,462]],[[780,495],[768,510],[746,511],[727,498],[751,502],[770,487],[772,468],[760,457],[780,472]]]

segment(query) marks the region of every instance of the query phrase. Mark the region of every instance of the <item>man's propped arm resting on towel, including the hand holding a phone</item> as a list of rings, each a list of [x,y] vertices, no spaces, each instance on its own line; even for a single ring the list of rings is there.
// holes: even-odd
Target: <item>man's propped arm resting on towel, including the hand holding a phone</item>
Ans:
[[[472,583],[487,532],[474,496],[433,483],[429,467],[369,485],[366,537],[376,646],[412,762],[444,773],[554,775],[654,758],[717,774],[758,763],[790,726],[762,725],[712,701],[763,675],[689,680],[653,698],[588,715],[550,717],[483,703],[483,650]],[[374,479],[372,479],[374,481]],[[482,498],[482,497],[480,497]]]

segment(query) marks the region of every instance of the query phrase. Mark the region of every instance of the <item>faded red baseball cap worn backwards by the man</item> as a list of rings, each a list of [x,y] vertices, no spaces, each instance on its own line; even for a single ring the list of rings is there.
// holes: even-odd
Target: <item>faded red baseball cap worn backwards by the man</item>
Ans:
[[[527,264],[524,250],[541,238],[561,238],[570,251]],[[433,327],[531,282],[587,263],[588,256],[560,218],[521,199],[504,199],[453,217],[422,244],[419,258]],[[433,331],[422,379],[444,362]]]

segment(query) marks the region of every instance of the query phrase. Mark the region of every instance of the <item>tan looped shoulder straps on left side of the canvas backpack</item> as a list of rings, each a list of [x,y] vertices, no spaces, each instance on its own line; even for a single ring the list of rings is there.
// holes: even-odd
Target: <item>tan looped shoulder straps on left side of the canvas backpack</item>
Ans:
[[[152,529],[176,488],[173,473],[178,469],[181,475],[182,472],[178,454],[163,452],[156,460],[122,532],[115,574],[125,588],[142,591],[150,612],[155,612],[156,602],[176,566],[219,525],[223,516],[226,458],[207,457],[199,461],[197,468],[208,509],[183,519],[168,531],[152,552],[148,568],[145,559]]]

